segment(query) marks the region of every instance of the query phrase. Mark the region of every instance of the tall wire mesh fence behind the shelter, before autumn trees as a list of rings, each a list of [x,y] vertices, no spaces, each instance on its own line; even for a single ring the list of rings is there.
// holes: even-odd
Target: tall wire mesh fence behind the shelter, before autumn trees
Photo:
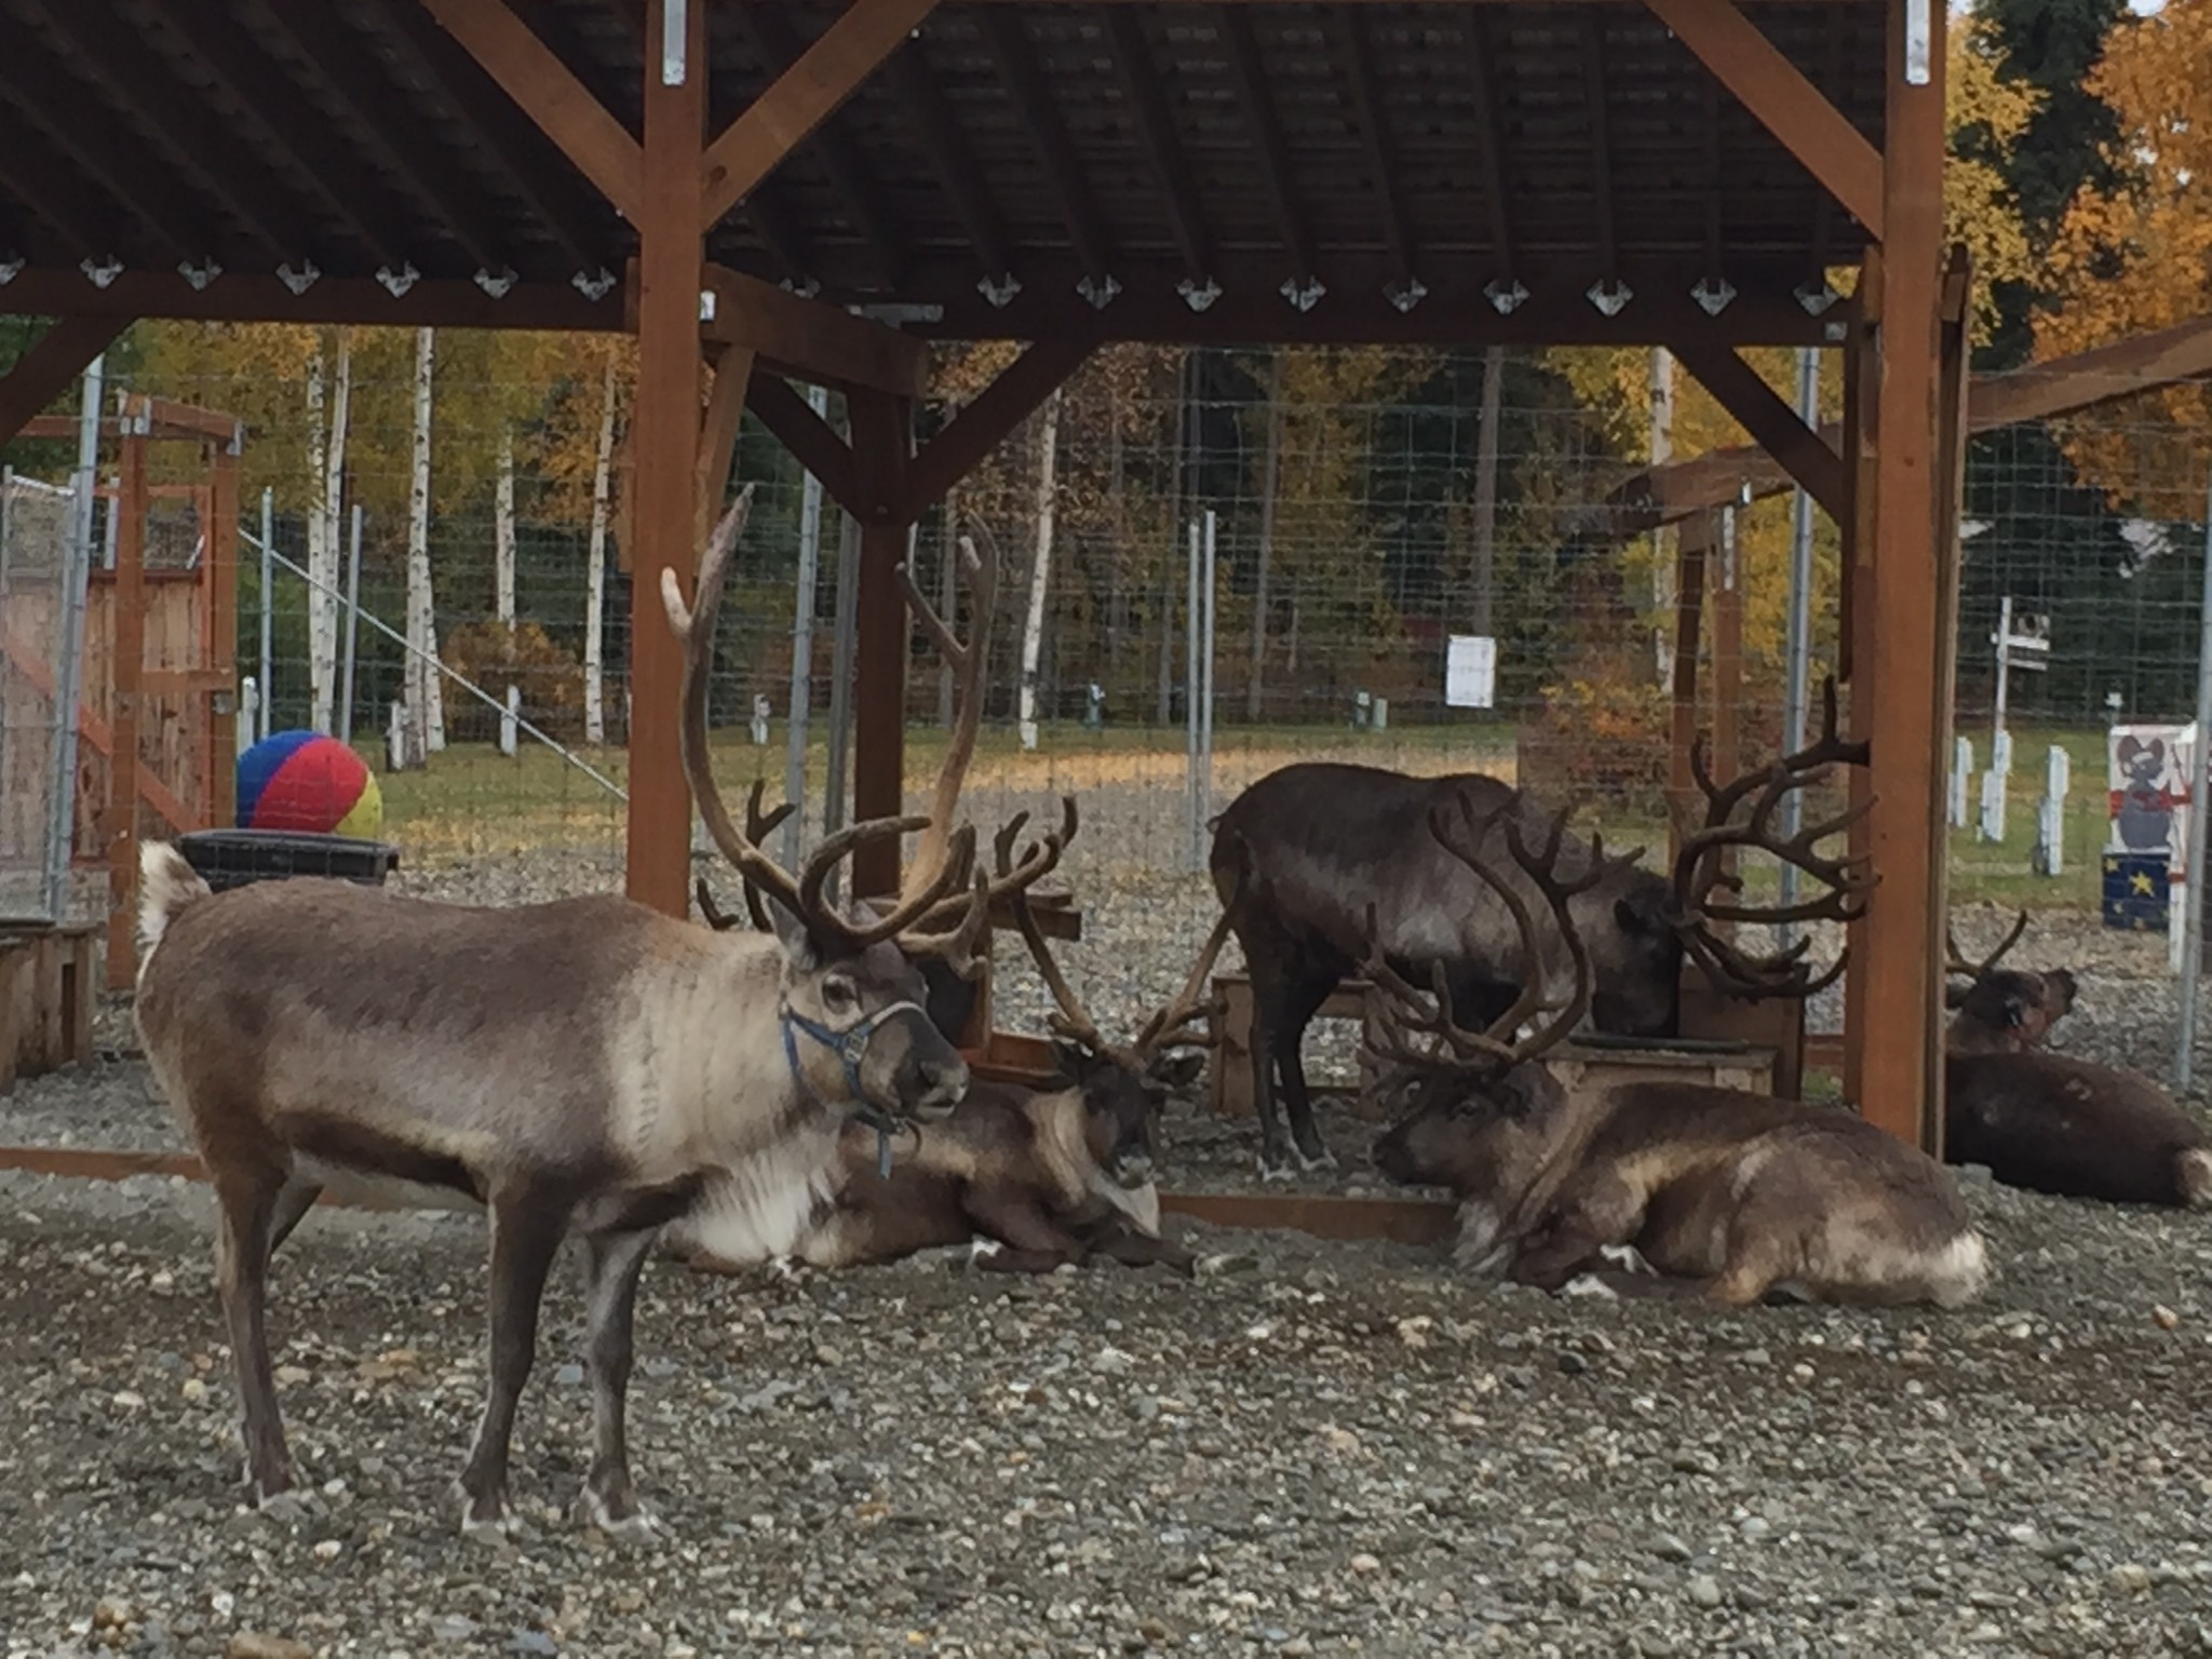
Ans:
[[[199,325],[133,338],[111,358],[111,398],[159,392],[248,427],[248,737],[347,737],[378,774],[409,880],[482,898],[617,887],[628,345]],[[918,436],[1004,356],[940,354]],[[1790,354],[1754,358],[1787,394]],[[818,403],[843,425],[838,398]],[[1829,363],[1814,407],[1834,418],[1838,403]],[[1971,445],[1960,898],[2099,905],[2112,728],[2190,719],[2194,409],[2146,396]],[[1730,440],[1646,352],[1106,352],[914,531],[916,580],[962,633],[958,538],[1002,571],[969,814],[989,830],[1079,799],[1066,872],[1086,940],[1071,956],[1126,1004],[1164,1000],[1212,918],[1206,821],[1290,761],[1491,772],[1577,799],[1608,841],[1663,847],[1681,531],[1626,533],[1608,498],[1655,449]],[[27,473],[66,480],[58,445],[18,451]],[[858,549],[750,418],[737,478],[757,500],[717,648],[717,754],[732,794],[796,785],[792,856],[832,816],[827,785],[849,779],[838,630]],[[1792,613],[1809,684],[1834,668],[1840,575],[1834,524],[1814,513],[1801,540],[1787,495],[1714,535],[1699,721],[1743,763],[1785,734]],[[1993,633],[2011,641],[2002,757]],[[920,628],[907,719],[918,810],[953,721]],[[11,728],[9,754],[35,741]],[[35,812],[9,765],[13,860],[35,845]],[[2044,812],[2053,781],[2066,792]],[[728,878],[710,880],[728,898]]]

